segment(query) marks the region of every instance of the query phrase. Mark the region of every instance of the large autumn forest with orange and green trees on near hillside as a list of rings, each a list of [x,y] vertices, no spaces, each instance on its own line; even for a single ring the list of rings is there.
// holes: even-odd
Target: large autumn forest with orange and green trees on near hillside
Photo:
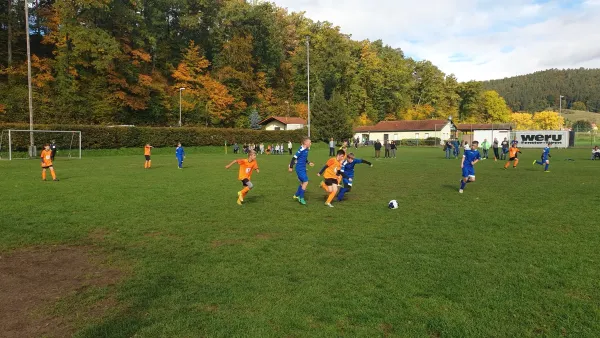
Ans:
[[[24,4],[0,3],[0,123],[28,121]],[[401,49],[267,2],[34,0],[28,8],[35,123],[173,126],[180,106],[188,126],[305,117],[307,40],[317,134],[385,119],[511,117],[479,82],[458,83]]]

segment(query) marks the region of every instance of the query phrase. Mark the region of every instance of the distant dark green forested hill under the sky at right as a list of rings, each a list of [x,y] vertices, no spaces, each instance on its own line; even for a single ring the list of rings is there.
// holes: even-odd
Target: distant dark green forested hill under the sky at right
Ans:
[[[600,69],[550,69],[483,82],[497,91],[513,111],[538,112],[562,107],[600,112]]]

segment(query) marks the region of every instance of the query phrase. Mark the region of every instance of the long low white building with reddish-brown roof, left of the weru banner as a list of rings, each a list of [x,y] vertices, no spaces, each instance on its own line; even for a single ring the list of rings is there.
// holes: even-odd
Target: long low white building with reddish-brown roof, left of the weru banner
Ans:
[[[452,126],[452,122],[448,120],[381,121],[374,126],[355,128],[354,138],[358,137],[361,142],[365,140],[384,142],[437,137],[443,141],[452,136]]]

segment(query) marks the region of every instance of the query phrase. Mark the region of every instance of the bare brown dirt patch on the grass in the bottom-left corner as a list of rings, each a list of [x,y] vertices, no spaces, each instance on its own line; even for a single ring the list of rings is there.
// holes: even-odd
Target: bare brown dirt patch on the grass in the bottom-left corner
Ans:
[[[67,337],[74,316],[101,318],[117,306],[114,298],[76,305],[70,314],[52,313],[54,304],[91,287],[119,282],[123,273],[101,264],[91,247],[55,246],[0,253],[0,332],[2,337]]]

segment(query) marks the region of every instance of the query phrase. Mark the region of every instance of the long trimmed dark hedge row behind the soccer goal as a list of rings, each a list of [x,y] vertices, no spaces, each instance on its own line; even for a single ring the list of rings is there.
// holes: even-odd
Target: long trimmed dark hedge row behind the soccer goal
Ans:
[[[28,130],[25,124],[0,124],[0,130]],[[116,149],[142,147],[150,143],[155,147],[173,147],[177,142],[185,146],[218,146],[243,143],[300,142],[305,130],[266,131],[226,128],[166,128],[166,127],[107,127],[89,125],[36,125],[37,130],[77,130],[81,131],[83,149]],[[67,145],[73,141],[75,146],[79,140],[77,134],[71,133],[36,133],[35,144],[38,148],[44,143],[56,140],[59,145]],[[7,133],[2,135],[2,143],[7,141]],[[27,149],[29,133],[14,133],[12,144],[16,150]]]

